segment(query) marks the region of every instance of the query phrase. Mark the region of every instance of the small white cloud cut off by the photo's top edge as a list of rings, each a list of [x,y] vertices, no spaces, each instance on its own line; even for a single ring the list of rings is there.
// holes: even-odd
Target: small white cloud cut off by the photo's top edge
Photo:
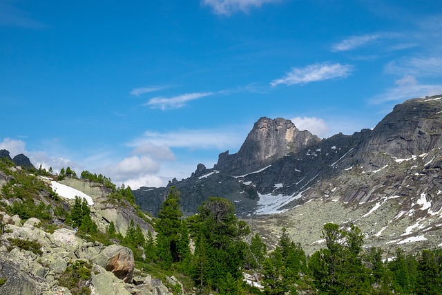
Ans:
[[[233,12],[249,12],[250,8],[259,8],[262,4],[280,0],[202,0],[203,6],[210,6],[215,15],[232,15]]]

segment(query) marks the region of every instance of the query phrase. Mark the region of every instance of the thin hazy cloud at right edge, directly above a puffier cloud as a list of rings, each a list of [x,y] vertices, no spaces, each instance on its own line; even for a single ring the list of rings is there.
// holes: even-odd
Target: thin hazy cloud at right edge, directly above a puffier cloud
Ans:
[[[395,75],[414,75],[417,77],[440,77],[442,57],[412,57],[390,61],[385,71]]]

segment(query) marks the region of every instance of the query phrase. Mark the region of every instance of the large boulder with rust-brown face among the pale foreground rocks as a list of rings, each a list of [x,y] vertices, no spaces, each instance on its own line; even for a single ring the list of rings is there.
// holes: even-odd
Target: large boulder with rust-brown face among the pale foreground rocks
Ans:
[[[128,247],[121,245],[108,246],[92,260],[108,272],[115,274],[117,278],[124,280],[125,283],[131,283],[135,260],[132,250]]]

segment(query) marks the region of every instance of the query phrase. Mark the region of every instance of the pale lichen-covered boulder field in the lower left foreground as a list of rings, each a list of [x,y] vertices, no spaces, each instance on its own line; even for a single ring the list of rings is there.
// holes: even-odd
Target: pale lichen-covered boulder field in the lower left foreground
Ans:
[[[68,270],[78,265],[90,268],[90,277],[84,281],[90,294],[172,294],[161,280],[135,268],[133,252],[127,247],[86,242],[66,228],[43,231],[37,218],[22,224],[19,216],[0,212],[0,217],[0,281],[6,280],[0,285],[0,294],[70,295],[60,280],[66,280]],[[20,244],[17,240],[33,243]],[[33,245],[41,247],[35,249]],[[169,286],[181,285],[174,277],[166,279]]]

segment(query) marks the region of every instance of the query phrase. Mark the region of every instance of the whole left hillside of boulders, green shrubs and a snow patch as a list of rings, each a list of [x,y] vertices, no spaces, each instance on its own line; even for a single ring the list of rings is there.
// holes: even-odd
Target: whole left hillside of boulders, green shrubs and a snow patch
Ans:
[[[183,289],[174,277],[166,276],[166,286],[162,280],[136,269],[132,249],[108,245],[119,240],[107,240],[106,246],[90,241],[93,239],[88,235],[83,236],[88,240],[79,238],[66,214],[61,213],[72,208],[75,194],[90,198],[90,217],[102,233],[113,222],[116,231],[124,236],[131,220],[145,235],[152,233],[152,219],[131,202],[114,200],[101,184],[77,178],[59,183],[54,176],[36,176],[32,173],[37,172],[35,169],[28,171],[13,165],[0,161],[0,295],[169,295],[174,285]],[[55,191],[51,187],[56,187]],[[19,215],[6,213],[18,211],[22,216],[35,216],[38,208],[44,216],[41,220],[21,220]],[[77,280],[80,283],[75,283]],[[84,287],[89,293],[79,293],[77,287]]]

